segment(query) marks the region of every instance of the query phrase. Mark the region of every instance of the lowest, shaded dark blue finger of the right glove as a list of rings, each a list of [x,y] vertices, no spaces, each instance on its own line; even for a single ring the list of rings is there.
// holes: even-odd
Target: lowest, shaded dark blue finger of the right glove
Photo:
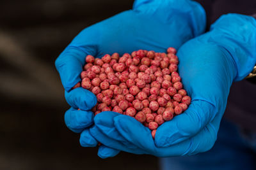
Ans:
[[[137,146],[131,145],[131,143],[126,143],[124,145],[124,143],[115,140],[113,136],[106,136],[106,134],[102,132],[102,129],[99,129],[95,125],[93,125],[93,127],[90,128],[90,133],[92,134],[93,138],[97,139],[97,141],[99,141],[105,146],[108,146],[109,148],[115,148],[116,150],[122,150],[124,152],[135,153],[135,154],[142,154],[143,152]]]

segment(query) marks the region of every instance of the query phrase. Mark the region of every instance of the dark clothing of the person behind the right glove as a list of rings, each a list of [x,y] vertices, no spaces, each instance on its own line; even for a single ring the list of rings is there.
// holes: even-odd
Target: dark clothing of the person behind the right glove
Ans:
[[[256,14],[255,0],[196,0],[207,15],[207,30],[221,15],[240,13]],[[253,15],[254,17],[255,15]],[[255,46],[256,48],[256,46]],[[255,54],[256,55],[256,54]],[[241,126],[245,131],[256,132],[256,78],[236,82],[230,89],[224,117]]]

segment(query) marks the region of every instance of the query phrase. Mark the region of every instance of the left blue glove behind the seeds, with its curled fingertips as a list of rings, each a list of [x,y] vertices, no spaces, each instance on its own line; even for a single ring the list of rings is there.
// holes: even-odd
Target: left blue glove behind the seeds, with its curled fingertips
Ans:
[[[95,106],[97,99],[88,90],[71,90],[81,81],[80,73],[83,71],[86,55],[102,57],[114,52],[122,55],[139,49],[165,52],[169,46],[179,48],[204,30],[204,9],[194,1],[141,0],[134,2],[132,10],[124,11],[80,32],[55,64],[65,88],[65,97],[72,107],[65,114],[65,122],[72,131],[83,131],[81,145],[97,145],[88,131],[88,127],[93,124],[93,115],[89,110]],[[81,110],[77,111],[77,108]],[[109,150],[111,149],[104,146],[98,155],[109,157],[118,153],[113,150],[112,153],[105,154]]]

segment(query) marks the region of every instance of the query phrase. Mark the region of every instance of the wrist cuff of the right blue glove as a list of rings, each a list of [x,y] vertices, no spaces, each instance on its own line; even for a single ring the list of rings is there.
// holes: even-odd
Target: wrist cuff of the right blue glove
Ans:
[[[256,64],[256,20],[246,15],[222,15],[211,25],[209,34],[209,41],[222,46],[234,60],[234,81],[243,80]]]

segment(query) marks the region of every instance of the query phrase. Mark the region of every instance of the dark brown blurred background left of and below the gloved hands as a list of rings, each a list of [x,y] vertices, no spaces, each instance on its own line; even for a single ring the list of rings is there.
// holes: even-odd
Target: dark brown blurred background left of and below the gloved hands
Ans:
[[[157,158],[100,159],[67,129],[54,60],[84,27],[133,0],[0,1],[0,169],[157,169]]]

